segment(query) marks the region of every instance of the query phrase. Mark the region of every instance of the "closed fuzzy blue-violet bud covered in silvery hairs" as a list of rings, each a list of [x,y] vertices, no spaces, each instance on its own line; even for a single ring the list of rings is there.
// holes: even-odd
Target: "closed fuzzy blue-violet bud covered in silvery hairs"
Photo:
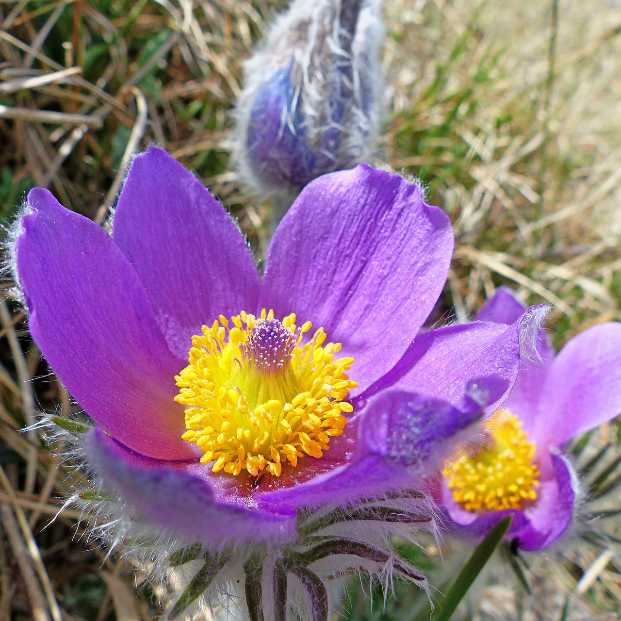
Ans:
[[[293,199],[368,156],[381,112],[380,0],[294,0],[245,69],[238,148],[245,180]]]

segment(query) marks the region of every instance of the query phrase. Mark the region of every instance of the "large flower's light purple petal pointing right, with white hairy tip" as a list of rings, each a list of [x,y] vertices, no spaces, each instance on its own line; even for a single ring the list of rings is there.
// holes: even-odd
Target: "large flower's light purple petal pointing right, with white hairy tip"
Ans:
[[[394,369],[360,399],[368,399],[392,384],[456,405],[468,381],[493,375],[505,379],[508,388],[488,404],[487,411],[491,412],[509,394],[521,358],[532,355],[534,339],[545,314],[545,306],[533,306],[509,326],[478,322],[424,332],[415,338]]]

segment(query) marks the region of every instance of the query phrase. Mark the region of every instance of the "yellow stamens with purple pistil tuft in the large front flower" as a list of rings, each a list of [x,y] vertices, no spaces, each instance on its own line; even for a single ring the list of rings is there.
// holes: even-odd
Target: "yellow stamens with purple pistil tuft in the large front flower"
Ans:
[[[192,337],[175,401],[187,406],[183,439],[201,447],[201,463],[215,460],[214,472],[280,476],[283,463],[322,457],[342,435],[352,411],[343,399],[358,385],[345,374],[354,360],[336,358],[341,345],[324,345],[323,328],[302,345],[311,322],[295,321],[242,311]]]

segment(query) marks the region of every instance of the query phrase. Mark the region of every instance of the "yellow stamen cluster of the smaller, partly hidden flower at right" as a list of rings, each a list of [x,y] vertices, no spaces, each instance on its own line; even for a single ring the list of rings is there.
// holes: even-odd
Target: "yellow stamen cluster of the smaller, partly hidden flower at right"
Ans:
[[[497,410],[484,423],[486,445],[460,451],[443,471],[455,501],[468,511],[522,509],[537,499],[539,469],[533,463],[535,442],[528,442],[522,421]]]

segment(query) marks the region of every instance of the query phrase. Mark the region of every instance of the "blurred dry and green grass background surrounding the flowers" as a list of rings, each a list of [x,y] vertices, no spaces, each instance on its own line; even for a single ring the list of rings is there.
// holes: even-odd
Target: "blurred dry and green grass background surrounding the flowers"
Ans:
[[[419,178],[455,225],[438,316],[471,317],[507,284],[525,302],[553,305],[558,346],[621,319],[621,7],[384,4],[387,117],[377,161]],[[285,7],[0,0],[0,221],[37,185],[102,222],[130,153],[156,142],[237,215],[261,256],[270,203],[235,171],[231,111],[242,61]],[[85,541],[86,523],[70,510],[48,525],[81,473],[60,465],[37,432],[19,429],[37,410],[74,406],[29,340],[11,284],[0,305],[0,621],[152,619],[158,592],[142,582],[148,568]],[[603,442],[617,431],[598,433]],[[445,568],[458,548],[447,542]],[[422,562],[432,569],[438,556]],[[616,618],[608,615],[621,605],[621,562],[611,555],[600,566],[593,550],[535,559],[533,596],[497,580],[479,589],[482,611],[466,618]],[[586,588],[585,576],[594,576]],[[371,608],[368,585],[353,582],[340,616],[417,619],[417,593],[395,588],[386,609],[378,592]]]

